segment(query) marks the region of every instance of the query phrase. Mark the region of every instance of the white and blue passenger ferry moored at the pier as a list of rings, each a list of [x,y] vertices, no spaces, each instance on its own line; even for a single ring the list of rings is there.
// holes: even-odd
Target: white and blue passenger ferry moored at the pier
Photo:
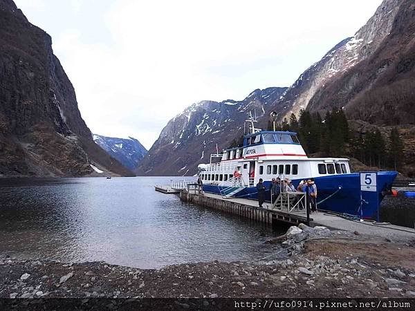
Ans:
[[[377,200],[362,200],[360,173],[352,173],[347,158],[308,158],[297,133],[261,131],[250,122],[250,134],[243,147],[212,154],[209,164],[199,164],[203,191],[225,197],[257,199],[257,182],[264,180],[266,198],[270,200],[272,178],[288,178],[295,187],[302,180],[314,178],[317,185],[317,208],[342,214],[376,218],[379,204],[391,189],[396,171],[378,172]],[[212,161],[219,157],[220,162]],[[365,204],[362,204],[365,202]]]

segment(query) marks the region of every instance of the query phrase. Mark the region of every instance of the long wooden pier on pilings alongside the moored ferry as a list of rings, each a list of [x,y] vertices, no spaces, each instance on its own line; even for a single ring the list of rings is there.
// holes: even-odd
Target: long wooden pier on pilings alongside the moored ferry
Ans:
[[[313,219],[307,219],[306,212],[291,212],[272,209],[270,202],[264,203],[264,208],[258,207],[258,201],[244,198],[223,198],[217,194],[198,194],[196,192],[182,190],[180,198],[184,202],[190,202],[201,207],[207,207],[224,214],[231,214],[255,220],[261,223],[277,225],[277,223],[287,223],[289,225],[299,225],[299,223],[309,223]]]

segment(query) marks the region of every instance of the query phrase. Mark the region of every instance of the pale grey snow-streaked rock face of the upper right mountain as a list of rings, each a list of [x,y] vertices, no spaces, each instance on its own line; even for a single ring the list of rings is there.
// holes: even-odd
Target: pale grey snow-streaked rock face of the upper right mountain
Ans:
[[[396,17],[401,14],[403,2],[403,0],[383,1],[374,16],[353,37],[342,40],[319,62],[304,71],[288,88],[282,100],[277,100],[270,106],[279,112],[279,120],[289,117],[291,113],[298,115],[299,111],[307,109],[311,102],[319,102],[320,99],[313,97],[316,93],[320,93],[322,88],[327,88],[356,66],[360,67],[362,61],[376,57],[376,53],[384,46],[384,40],[389,36]],[[407,2],[413,3],[413,1]],[[407,34],[410,33],[413,34],[413,32]],[[342,96],[343,93],[348,92],[351,85],[359,83],[369,85],[365,81],[358,82],[358,75],[350,75],[344,87],[338,89],[337,95]],[[346,104],[345,102],[342,106]],[[313,104],[313,109],[320,107]]]

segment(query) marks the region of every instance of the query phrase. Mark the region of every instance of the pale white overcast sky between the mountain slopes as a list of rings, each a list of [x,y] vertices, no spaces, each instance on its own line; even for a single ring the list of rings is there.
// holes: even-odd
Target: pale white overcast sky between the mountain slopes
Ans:
[[[160,131],[201,100],[290,86],[381,0],[15,0],[52,36],[93,133]]]

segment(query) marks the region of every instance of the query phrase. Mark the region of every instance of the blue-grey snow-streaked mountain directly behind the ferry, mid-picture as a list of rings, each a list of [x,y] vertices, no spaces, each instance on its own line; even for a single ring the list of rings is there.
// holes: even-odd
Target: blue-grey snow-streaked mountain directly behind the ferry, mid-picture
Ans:
[[[255,90],[242,101],[202,101],[188,107],[167,123],[158,140],[136,170],[139,175],[192,176],[210,154],[229,147],[243,135],[247,113],[263,116],[286,88]]]

